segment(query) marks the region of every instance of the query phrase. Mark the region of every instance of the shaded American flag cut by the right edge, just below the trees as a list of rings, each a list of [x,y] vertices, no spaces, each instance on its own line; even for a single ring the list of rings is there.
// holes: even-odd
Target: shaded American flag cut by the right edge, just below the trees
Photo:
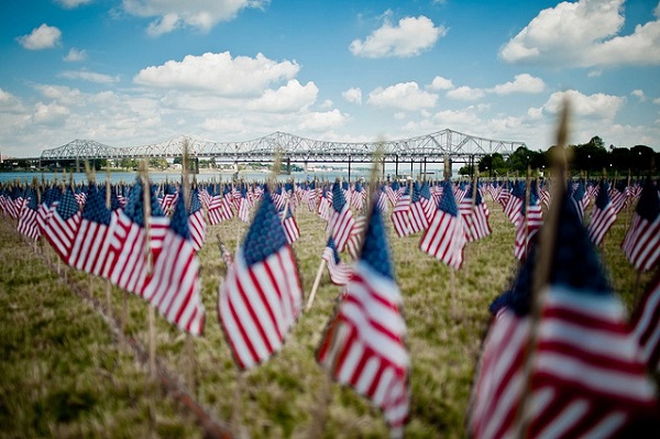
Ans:
[[[639,272],[651,270],[660,259],[660,195],[651,179],[644,185],[622,246]]]

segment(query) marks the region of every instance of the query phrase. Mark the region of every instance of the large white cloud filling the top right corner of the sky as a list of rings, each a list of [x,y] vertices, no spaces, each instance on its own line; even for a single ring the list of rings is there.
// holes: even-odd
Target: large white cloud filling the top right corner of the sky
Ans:
[[[499,56],[509,63],[565,66],[660,64],[660,21],[618,35],[625,0],[580,0],[544,9],[507,42]]]

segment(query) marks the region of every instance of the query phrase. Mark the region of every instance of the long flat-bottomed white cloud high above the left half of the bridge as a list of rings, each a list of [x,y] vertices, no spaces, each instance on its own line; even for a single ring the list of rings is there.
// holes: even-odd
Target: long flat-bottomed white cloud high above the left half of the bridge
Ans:
[[[205,91],[216,96],[260,96],[273,83],[293,79],[300,67],[295,62],[277,63],[261,53],[255,58],[231,57],[229,52],[186,56],[146,67],[133,80],[148,87]]]

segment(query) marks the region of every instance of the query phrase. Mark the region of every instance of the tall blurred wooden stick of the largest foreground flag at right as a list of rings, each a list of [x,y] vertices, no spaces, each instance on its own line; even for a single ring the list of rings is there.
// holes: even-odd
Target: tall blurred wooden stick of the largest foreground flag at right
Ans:
[[[560,122],[557,132],[557,149],[554,154],[553,174],[557,184],[552,185],[552,199],[554,202],[548,211],[548,221],[539,231],[538,254],[535,261],[532,289],[531,289],[531,312],[528,342],[525,347],[522,356],[522,388],[520,399],[516,410],[515,437],[526,438],[529,432],[531,419],[531,374],[534,369],[534,356],[537,350],[539,339],[539,323],[541,320],[541,310],[547,292],[547,285],[550,279],[552,255],[554,253],[554,243],[557,229],[559,226],[559,216],[563,197],[566,191],[566,151],[565,143],[568,138],[570,106],[569,100],[563,101],[563,108],[560,114]]]

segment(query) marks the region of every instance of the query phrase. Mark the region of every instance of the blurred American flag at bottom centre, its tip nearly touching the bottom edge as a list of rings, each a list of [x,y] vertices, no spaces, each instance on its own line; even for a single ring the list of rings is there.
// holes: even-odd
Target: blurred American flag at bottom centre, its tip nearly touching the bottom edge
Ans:
[[[353,277],[316,356],[334,380],[370,398],[396,437],[403,436],[410,406],[410,356],[402,301],[385,224],[374,204]]]

